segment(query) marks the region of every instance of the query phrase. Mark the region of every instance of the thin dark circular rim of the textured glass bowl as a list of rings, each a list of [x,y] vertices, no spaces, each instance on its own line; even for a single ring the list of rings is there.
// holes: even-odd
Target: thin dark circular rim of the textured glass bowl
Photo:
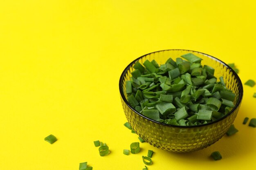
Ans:
[[[206,55],[207,57],[213,59],[213,60],[216,60],[217,62],[220,62],[221,64],[223,64],[224,66],[226,66],[230,71],[233,72],[233,75],[235,76],[235,78],[237,79],[238,81],[238,88],[239,88],[239,92],[240,92],[240,95],[238,97],[238,102],[236,103],[236,105],[234,106],[234,108],[232,108],[232,110],[225,116],[221,117],[220,119],[216,120],[216,121],[212,121],[210,123],[207,123],[207,124],[200,124],[200,125],[193,125],[193,126],[180,126],[180,125],[170,125],[170,124],[164,124],[164,123],[161,123],[159,121],[155,121],[153,119],[150,119],[144,115],[142,115],[141,113],[137,112],[135,109],[132,108],[132,106],[130,106],[129,102],[127,101],[125,95],[124,95],[124,92],[122,91],[122,79],[124,78],[124,75],[125,73],[130,69],[130,67],[132,66],[132,64],[134,64],[135,62],[137,62],[139,59],[141,59],[142,57],[145,57],[146,55],[150,55],[152,53],[157,53],[157,52],[162,52],[162,51],[188,51],[188,52],[195,52],[195,53],[200,53],[202,55]],[[216,57],[213,57],[211,55],[208,55],[206,53],[202,53],[202,52],[199,52],[199,51],[193,51],[193,50],[185,50],[185,49],[168,49],[168,50],[159,50],[159,51],[154,51],[152,53],[148,53],[148,54],[145,54],[145,55],[142,55],[141,57],[138,57],[136,58],[135,60],[133,60],[130,64],[128,64],[128,66],[126,66],[126,68],[124,69],[124,71],[122,72],[121,76],[120,76],[120,79],[119,79],[119,92],[120,92],[120,95],[122,97],[122,99],[124,100],[124,102],[126,103],[126,105],[132,109],[132,111],[134,111],[135,113],[137,113],[138,115],[144,117],[145,119],[148,119],[149,121],[153,121],[157,124],[161,124],[161,125],[164,125],[164,126],[169,126],[169,127],[177,127],[177,128],[197,128],[197,127],[201,127],[201,126],[208,126],[208,125],[211,125],[211,124],[215,124],[219,121],[222,121],[223,119],[225,119],[226,117],[228,117],[229,115],[231,115],[232,113],[234,113],[234,110],[236,110],[236,108],[239,107],[239,105],[241,104],[242,102],[242,99],[243,99],[243,84],[241,82],[241,79],[239,78],[238,74],[228,65],[226,64],[225,62],[219,60],[218,58]]]

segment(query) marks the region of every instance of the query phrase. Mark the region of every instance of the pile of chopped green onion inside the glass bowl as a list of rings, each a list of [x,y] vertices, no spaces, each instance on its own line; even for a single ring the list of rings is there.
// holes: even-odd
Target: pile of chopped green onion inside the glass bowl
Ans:
[[[136,62],[126,81],[130,105],[142,115],[165,124],[193,126],[220,119],[234,107],[236,95],[192,53],[159,66],[155,60]]]

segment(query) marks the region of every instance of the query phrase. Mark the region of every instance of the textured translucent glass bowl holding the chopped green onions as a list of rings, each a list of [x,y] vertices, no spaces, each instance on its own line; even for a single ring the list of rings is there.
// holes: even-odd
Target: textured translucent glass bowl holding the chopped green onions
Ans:
[[[202,58],[202,65],[209,65],[215,69],[215,77],[223,76],[224,82],[236,94],[235,107],[229,114],[217,121],[196,126],[175,126],[159,123],[138,113],[127,101],[125,82],[130,80],[133,65],[139,61],[155,60],[164,64],[171,57],[174,60],[186,53],[193,53]],[[243,85],[235,71],[227,64],[211,55],[190,50],[164,50],[143,55],[131,62],[121,74],[119,80],[121,102],[126,118],[133,130],[147,143],[157,148],[171,152],[190,152],[200,150],[218,141],[233,124],[243,98]]]

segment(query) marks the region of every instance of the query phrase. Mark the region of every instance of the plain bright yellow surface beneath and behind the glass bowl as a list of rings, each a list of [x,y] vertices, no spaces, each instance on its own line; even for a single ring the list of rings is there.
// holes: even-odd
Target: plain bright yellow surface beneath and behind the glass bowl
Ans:
[[[255,166],[256,86],[244,86],[239,132],[186,154],[141,144],[123,126],[121,72],[135,58],[163,49],[190,49],[234,62],[243,83],[255,77],[254,1],[1,0],[0,170],[227,170]],[[53,134],[54,144],[44,141]],[[100,157],[93,141],[110,147]],[[223,159],[209,155],[219,150]]]

